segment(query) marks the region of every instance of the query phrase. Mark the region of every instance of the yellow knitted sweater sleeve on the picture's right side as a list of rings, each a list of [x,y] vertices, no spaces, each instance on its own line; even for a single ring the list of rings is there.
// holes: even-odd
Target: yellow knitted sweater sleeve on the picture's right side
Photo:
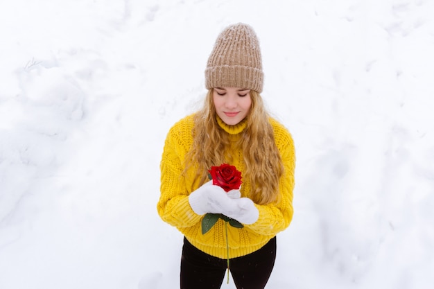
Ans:
[[[289,132],[279,130],[276,143],[284,163],[284,175],[279,181],[280,200],[277,203],[259,205],[259,219],[246,227],[256,234],[275,236],[286,229],[293,219],[293,189],[295,184],[295,147]]]

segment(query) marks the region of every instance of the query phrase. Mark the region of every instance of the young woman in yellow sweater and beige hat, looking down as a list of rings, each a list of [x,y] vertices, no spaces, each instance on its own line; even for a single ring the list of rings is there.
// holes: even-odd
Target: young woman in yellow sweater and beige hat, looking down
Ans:
[[[205,80],[202,110],[168,132],[157,211],[184,234],[182,289],[220,288],[227,258],[236,288],[264,288],[275,263],[276,235],[293,217],[295,149],[288,130],[264,109],[259,41],[250,26],[234,24],[220,33]],[[209,181],[208,170],[221,164],[241,171],[240,189],[226,193]],[[202,234],[207,213],[243,227],[219,219]]]

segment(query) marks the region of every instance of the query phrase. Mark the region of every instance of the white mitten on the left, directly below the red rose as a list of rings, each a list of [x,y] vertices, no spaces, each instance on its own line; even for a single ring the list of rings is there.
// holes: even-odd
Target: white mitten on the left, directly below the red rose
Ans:
[[[238,195],[236,192],[233,194]],[[238,205],[234,201],[220,186],[214,186],[212,181],[202,184],[189,195],[190,207],[198,215],[222,213],[224,210],[235,211]]]

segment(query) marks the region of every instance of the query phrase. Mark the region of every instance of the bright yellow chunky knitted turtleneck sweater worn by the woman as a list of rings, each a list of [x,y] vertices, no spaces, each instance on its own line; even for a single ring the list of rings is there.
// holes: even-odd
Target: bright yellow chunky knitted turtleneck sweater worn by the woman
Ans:
[[[189,194],[198,189],[198,184],[193,181],[195,173],[187,171],[182,175],[182,167],[186,153],[190,150],[194,126],[193,114],[178,121],[169,130],[164,151],[161,169],[161,195],[157,204],[159,216],[168,224],[179,229],[182,234],[198,249],[209,255],[221,259],[227,258],[225,239],[225,222],[218,220],[216,225],[206,234],[202,235],[201,220],[203,216],[197,215],[189,205]],[[279,231],[289,226],[293,218],[293,188],[295,170],[295,149],[293,139],[283,125],[270,119],[275,133],[275,142],[284,162],[284,175],[279,181],[280,200],[277,204],[256,204],[259,210],[259,219],[252,225],[244,225],[242,229],[227,226],[229,241],[229,258],[236,258],[250,254],[260,249]],[[234,140],[241,136],[240,132],[246,123],[238,125],[226,125],[218,119],[218,124],[227,133],[232,134]],[[234,155],[243,155],[234,153]],[[243,172],[243,159],[234,159],[238,170]],[[243,179],[241,196],[249,197],[250,182]]]

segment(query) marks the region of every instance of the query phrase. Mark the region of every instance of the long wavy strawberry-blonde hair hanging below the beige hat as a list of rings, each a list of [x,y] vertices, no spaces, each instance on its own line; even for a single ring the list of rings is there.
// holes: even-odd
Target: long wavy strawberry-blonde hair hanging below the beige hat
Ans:
[[[284,165],[261,96],[251,90],[250,97],[252,105],[246,116],[247,125],[236,146],[243,152],[243,176],[250,180],[252,200],[257,204],[269,204],[279,200],[279,178],[284,173]],[[211,166],[232,161],[229,134],[223,132],[216,121],[213,89],[209,89],[205,105],[194,121],[193,146],[186,155],[185,168],[196,163],[193,165],[197,166],[196,179],[203,184]]]

